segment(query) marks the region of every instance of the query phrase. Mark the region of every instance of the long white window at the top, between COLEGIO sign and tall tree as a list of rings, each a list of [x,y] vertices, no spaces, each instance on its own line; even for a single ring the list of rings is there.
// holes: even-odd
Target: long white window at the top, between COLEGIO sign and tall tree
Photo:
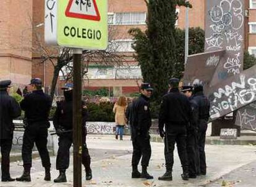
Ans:
[[[108,14],[109,25],[143,25],[146,24],[146,12],[120,12]]]

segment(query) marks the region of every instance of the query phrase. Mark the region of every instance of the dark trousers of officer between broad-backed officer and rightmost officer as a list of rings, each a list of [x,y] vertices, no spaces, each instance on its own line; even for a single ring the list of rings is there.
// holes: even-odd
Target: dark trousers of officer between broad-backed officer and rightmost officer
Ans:
[[[197,143],[197,134],[194,130],[187,130],[187,157],[189,161],[189,175],[197,175],[197,153],[195,145]]]

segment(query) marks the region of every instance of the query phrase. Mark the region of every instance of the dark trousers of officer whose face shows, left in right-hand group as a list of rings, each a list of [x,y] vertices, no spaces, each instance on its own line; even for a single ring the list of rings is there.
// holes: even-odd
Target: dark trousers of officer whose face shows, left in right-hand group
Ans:
[[[142,158],[141,165],[148,167],[151,157],[150,135],[132,138],[132,165],[138,165]]]

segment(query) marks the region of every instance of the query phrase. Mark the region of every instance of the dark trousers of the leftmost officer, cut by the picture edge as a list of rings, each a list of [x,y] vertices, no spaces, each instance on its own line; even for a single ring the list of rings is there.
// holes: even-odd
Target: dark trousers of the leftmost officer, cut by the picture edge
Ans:
[[[0,139],[1,147],[1,171],[2,179],[10,177],[10,152],[12,149],[12,137],[8,139]]]

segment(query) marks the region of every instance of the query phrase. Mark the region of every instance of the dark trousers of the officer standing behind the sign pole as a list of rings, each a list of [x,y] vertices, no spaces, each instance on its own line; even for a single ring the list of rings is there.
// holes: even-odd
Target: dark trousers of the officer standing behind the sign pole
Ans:
[[[84,130],[83,130],[84,132]],[[59,149],[56,158],[56,169],[68,169],[69,168],[69,149],[73,143],[72,132],[62,133],[59,136]],[[82,164],[85,167],[86,172],[90,172],[91,157],[88,152],[86,144],[86,133],[82,135]]]

